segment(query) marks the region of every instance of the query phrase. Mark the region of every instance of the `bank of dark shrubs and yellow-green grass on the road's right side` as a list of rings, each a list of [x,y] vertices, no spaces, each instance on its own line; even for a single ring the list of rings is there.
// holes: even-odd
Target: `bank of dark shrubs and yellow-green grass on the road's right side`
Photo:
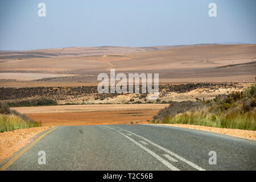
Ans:
[[[256,130],[256,85],[201,104],[198,107],[196,102],[171,102],[152,122]]]

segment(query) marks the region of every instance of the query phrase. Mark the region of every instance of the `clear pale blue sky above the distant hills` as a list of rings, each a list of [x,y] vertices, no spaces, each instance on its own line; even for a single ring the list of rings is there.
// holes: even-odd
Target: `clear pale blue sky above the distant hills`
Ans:
[[[38,4],[46,4],[46,17]],[[216,3],[217,17],[208,15]],[[256,43],[255,0],[1,0],[0,50]]]

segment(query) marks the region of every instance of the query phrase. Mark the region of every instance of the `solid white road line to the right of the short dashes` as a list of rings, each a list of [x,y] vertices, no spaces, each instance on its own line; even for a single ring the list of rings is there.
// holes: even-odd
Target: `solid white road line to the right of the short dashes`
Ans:
[[[118,129],[121,129],[121,128],[118,127]],[[126,132],[128,132],[128,133],[130,133],[130,134],[133,134],[133,135],[135,135],[135,136],[137,136],[137,137],[139,137],[139,138],[145,140],[146,142],[152,144],[152,145],[155,146],[155,147],[160,148],[161,150],[167,152],[168,154],[170,154],[170,155],[172,155],[172,156],[175,156],[175,158],[177,158],[177,159],[183,161],[184,163],[187,163],[189,166],[192,166],[193,168],[195,168],[195,169],[197,169],[197,170],[199,170],[199,171],[206,171],[204,168],[201,168],[201,167],[197,166],[196,164],[190,162],[189,160],[182,158],[181,156],[175,154],[174,152],[172,152],[172,151],[170,151],[170,150],[167,150],[166,148],[161,147],[161,146],[159,146],[158,144],[156,144],[156,143],[154,143],[154,142],[151,142],[150,140],[148,140],[148,139],[146,139],[146,138],[144,138],[144,137],[141,137],[140,135],[137,135],[137,134],[135,134],[135,133],[133,133],[133,132],[131,132],[131,131],[125,130],[125,129],[121,129],[121,130],[126,131]]]

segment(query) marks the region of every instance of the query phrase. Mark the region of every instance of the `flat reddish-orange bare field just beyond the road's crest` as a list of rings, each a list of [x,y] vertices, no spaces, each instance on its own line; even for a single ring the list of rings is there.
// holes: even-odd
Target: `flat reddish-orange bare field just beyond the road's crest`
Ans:
[[[56,125],[118,125],[149,123],[159,110],[93,111],[79,113],[36,113],[27,114],[43,126]]]

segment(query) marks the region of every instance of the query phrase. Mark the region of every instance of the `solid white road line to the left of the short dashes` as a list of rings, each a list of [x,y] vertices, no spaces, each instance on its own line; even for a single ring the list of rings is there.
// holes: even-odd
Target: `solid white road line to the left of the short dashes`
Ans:
[[[161,163],[163,163],[165,166],[167,166],[169,169],[171,169],[172,171],[180,171],[180,169],[172,166],[172,164],[168,163],[166,160],[164,160],[163,158],[161,158],[159,155],[155,154],[155,152],[149,150],[148,148],[144,147],[141,143],[136,142],[134,139],[126,136],[125,134],[122,134],[121,132],[113,129],[112,127],[109,126],[105,126],[108,127],[111,130],[114,130],[115,132],[123,135],[123,137],[129,139],[131,142],[133,142],[134,144],[137,144],[137,146],[141,147],[143,150],[145,150],[146,152],[148,152],[149,154],[151,154],[152,156],[154,156],[154,158],[158,159]]]

